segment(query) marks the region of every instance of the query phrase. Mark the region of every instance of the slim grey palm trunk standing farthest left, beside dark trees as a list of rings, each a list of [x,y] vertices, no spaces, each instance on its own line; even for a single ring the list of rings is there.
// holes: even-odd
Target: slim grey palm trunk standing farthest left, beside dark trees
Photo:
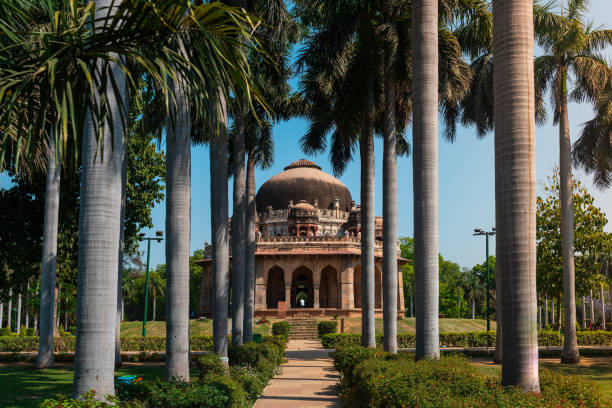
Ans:
[[[42,275],[40,278],[40,330],[37,368],[53,365],[53,309],[57,265],[57,231],[59,224],[61,162],[56,158],[55,135],[49,137],[49,159],[45,186]],[[0,327],[2,325],[0,324]]]

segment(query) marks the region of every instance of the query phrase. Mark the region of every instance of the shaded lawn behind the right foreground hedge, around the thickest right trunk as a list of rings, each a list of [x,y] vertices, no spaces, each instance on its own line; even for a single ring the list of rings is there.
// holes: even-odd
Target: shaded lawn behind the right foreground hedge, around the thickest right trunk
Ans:
[[[485,375],[501,377],[501,365],[477,359],[473,363]],[[612,400],[612,357],[583,357],[580,364],[561,364],[559,359],[541,358],[540,368],[591,380],[606,398]]]

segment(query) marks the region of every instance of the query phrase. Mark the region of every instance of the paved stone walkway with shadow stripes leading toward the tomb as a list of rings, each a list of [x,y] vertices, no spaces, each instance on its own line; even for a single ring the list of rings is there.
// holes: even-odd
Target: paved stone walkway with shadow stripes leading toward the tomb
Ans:
[[[291,340],[283,372],[270,381],[254,408],[341,407],[329,350],[312,340]]]

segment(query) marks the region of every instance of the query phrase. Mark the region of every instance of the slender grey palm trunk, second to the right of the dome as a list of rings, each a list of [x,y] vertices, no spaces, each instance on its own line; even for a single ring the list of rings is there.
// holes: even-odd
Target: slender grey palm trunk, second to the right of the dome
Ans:
[[[383,150],[383,320],[385,351],[397,353],[397,158],[395,81],[387,61]]]

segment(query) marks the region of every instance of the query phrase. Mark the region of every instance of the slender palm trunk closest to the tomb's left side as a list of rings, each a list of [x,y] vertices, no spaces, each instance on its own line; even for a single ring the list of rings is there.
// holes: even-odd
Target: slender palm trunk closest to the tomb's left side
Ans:
[[[253,341],[253,316],[255,313],[255,148],[249,150],[246,182],[246,273],[244,286],[244,342]]]

